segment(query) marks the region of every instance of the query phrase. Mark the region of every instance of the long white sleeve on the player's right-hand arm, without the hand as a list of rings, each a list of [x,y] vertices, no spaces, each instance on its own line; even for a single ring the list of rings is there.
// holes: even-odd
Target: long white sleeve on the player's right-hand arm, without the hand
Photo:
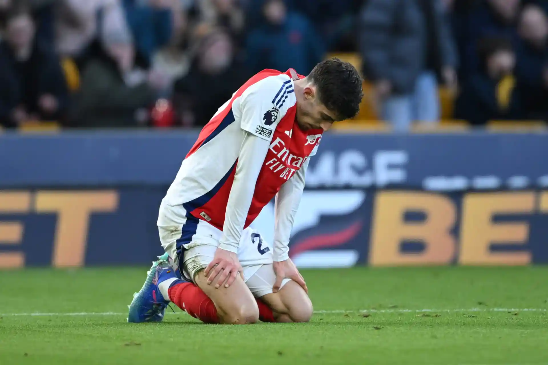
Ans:
[[[301,202],[305,188],[305,174],[310,159],[306,159],[301,168],[295,172],[279,189],[275,202],[274,224],[274,261],[285,261],[289,258],[289,238],[295,221],[295,214]]]

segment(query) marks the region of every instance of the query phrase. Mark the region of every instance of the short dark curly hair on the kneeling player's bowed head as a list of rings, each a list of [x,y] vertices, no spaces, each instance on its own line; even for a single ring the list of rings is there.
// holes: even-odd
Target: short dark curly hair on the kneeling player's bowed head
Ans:
[[[333,58],[320,62],[308,76],[316,84],[319,100],[339,120],[356,117],[362,102],[362,78],[356,67]]]

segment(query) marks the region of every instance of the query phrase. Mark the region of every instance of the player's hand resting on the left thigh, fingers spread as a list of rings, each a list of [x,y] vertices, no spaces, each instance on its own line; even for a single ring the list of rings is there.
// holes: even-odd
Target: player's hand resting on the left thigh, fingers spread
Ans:
[[[243,269],[239,263],[237,254],[222,250],[222,248],[217,248],[213,261],[209,263],[204,273],[208,277],[208,285],[212,285],[213,280],[219,276],[219,279],[214,283],[215,288],[220,288],[221,286],[225,288],[230,287],[238,274],[243,279]]]

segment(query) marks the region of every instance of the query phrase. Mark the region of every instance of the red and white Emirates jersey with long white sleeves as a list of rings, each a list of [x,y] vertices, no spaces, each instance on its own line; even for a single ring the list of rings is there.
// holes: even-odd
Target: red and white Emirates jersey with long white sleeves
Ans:
[[[277,202],[288,218],[276,218],[274,243],[275,260],[287,258],[287,247],[276,250],[276,241],[288,244],[307,159],[323,132],[296,123],[296,77],[292,69],[266,69],[250,78],[204,126],[165,196],[168,205],[184,206],[187,221],[222,230],[222,248],[236,252],[242,230],[285,184],[287,197],[296,195]]]

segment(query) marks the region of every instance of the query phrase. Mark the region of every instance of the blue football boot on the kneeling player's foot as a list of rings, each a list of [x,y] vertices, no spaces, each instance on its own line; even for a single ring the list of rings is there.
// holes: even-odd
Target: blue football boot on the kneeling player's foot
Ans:
[[[161,322],[163,320],[169,298],[162,296],[158,284],[171,278],[180,279],[180,275],[177,275],[169,265],[168,259],[168,254],[164,253],[158,257],[158,261],[152,263],[144,285],[139,293],[133,294],[132,304],[128,305],[128,322]]]

